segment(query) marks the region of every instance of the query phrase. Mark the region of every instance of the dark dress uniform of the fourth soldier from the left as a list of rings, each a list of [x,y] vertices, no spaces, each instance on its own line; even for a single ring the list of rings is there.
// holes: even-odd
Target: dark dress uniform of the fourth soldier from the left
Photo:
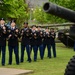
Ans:
[[[34,61],[37,61],[38,32],[36,30],[32,31],[31,47],[32,47],[33,52],[34,52]]]

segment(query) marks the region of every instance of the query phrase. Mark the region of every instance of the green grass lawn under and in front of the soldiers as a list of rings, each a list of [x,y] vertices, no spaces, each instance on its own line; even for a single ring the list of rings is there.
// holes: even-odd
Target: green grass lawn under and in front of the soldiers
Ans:
[[[73,51],[72,48],[67,48],[61,43],[56,44],[56,49],[57,49],[57,58],[53,58],[53,57],[51,59],[47,58],[47,50],[46,50],[44,60],[40,60],[40,56],[38,52],[37,62],[33,61],[33,53],[32,53],[31,63],[28,63],[26,61],[27,57],[25,52],[24,63],[21,63],[20,65],[16,65],[15,56],[13,52],[13,63],[12,65],[8,65],[8,48],[7,48],[6,65],[4,67],[33,70],[34,73],[29,75],[64,75],[66,65],[69,62],[70,58],[72,58],[72,56],[75,55],[75,52]],[[1,66],[1,62],[0,62],[0,67],[3,67]]]

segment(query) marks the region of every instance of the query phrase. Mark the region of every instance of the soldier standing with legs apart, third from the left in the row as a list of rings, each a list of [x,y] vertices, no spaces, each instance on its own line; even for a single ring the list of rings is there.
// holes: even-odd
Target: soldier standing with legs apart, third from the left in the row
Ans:
[[[30,58],[30,35],[31,35],[31,29],[28,27],[28,22],[24,22],[24,28],[21,30],[21,62],[24,61],[24,50],[26,47],[26,52],[28,59],[27,61],[31,62]]]

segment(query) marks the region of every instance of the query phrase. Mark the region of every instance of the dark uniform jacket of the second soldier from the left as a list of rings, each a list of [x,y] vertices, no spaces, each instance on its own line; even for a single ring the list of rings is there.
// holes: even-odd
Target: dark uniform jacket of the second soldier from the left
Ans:
[[[11,27],[8,29],[8,46],[18,46],[18,38],[20,37],[19,30],[16,32],[18,28],[12,29]],[[9,37],[9,35],[12,35]]]

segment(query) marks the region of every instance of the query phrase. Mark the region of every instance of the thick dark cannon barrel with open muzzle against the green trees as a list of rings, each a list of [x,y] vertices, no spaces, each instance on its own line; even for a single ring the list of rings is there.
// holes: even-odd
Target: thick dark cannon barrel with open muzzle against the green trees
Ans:
[[[46,13],[58,16],[71,22],[75,22],[75,11],[73,10],[49,2],[44,4],[43,10]]]

